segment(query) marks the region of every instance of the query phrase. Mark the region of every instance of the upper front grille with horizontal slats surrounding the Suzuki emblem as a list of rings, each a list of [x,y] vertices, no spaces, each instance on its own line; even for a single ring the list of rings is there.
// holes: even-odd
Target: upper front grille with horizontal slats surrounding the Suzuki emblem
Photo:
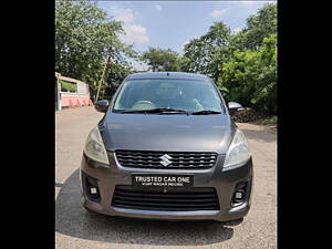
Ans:
[[[123,167],[133,168],[205,169],[217,160],[217,153],[116,151],[115,154]],[[167,157],[170,164],[166,166],[160,163],[164,155],[170,157]]]

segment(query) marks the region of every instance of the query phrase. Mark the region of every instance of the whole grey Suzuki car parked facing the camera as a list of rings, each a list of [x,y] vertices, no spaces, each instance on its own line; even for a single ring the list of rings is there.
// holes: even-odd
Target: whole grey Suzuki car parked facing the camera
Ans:
[[[242,220],[252,158],[231,120],[241,110],[208,76],[128,75],[90,132],[81,163],[82,204],[110,216]]]

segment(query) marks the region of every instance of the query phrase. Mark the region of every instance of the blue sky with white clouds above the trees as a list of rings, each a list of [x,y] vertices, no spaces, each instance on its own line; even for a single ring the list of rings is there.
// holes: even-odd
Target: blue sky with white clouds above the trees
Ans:
[[[183,46],[208,32],[216,21],[222,21],[232,32],[246,27],[246,19],[266,3],[276,1],[98,1],[97,7],[123,22],[121,39],[134,44],[137,52],[149,46],[172,49],[183,53]],[[136,70],[147,70],[144,63],[133,63]]]

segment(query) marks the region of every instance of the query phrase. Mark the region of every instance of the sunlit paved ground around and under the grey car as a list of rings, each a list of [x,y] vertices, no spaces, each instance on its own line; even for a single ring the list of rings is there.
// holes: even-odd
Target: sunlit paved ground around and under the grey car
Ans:
[[[132,220],[91,215],[80,204],[83,145],[102,116],[93,107],[55,113],[55,248],[277,248],[276,132],[239,124],[255,163],[252,207],[241,225]]]

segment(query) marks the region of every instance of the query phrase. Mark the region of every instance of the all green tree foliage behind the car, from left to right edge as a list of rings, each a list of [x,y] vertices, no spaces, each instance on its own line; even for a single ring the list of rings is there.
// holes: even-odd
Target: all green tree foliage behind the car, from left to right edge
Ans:
[[[55,1],[55,71],[92,83],[95,94],[105,60],[105,83],[101,96],[110,98],[118,84],[132,73],[128,58],[145,61],[153,71],[203,73],[215,80],[227,101],[277,113],[277,6],[266,4],[248,18],[247,27],[231,33],[221,21],[189,41],[184,55],[170,49],[149,48],[141,56],[118,35],[121,22],[108,18],[95,2]],[[76,91],[62,83],[62,91]]]

